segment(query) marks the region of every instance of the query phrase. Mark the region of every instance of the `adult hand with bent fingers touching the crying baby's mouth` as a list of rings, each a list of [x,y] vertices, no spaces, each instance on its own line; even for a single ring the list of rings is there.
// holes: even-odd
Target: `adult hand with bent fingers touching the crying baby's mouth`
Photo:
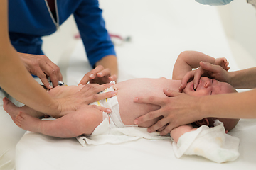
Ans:
[[[223,67],[225,69],[223,69]],[[188,72],[183,77],[181,80],[180,91],[183,91],[191,78],[193,78],[194,89],[196,89],[199,84],[199,79],[202,75],[210,76],[214,79],[218,79],[219,81],[230,83],[231,76],[230,73],[227,72],[229,67],[226,64],[224,64],[223,67],[220,65],[210,64],[209,62],[200,62],[200,67],[198,69]]]

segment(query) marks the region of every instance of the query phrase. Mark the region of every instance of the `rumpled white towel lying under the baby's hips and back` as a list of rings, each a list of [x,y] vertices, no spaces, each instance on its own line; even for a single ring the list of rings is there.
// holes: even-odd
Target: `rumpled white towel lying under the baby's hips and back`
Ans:
[[[100,125],[95,128],[92,135],[80,135],[76,137],[80,144],[85,147],[86,145],[102,145],[106,143],[119,144],[123,142],[129,142],[132,140],[138,140],[141,138],[148,140],[164,140],[171,139],[170,136],[161,136],[159,132],[149,133],[147,128],[139,127],[125,127],[125,128],[112,128],[107,120],[102,121]]]

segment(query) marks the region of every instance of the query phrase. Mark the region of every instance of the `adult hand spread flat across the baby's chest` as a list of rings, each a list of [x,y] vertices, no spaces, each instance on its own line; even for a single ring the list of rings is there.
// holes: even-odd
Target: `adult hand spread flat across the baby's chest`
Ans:
[[[202,115],[198,114],[199,107],[197,104],[200,97],[188,96],[169,89],[164,89],[164,93],[169,97],[134,98],[136,103],[151,103],[161,107],[159,110],[151,111],[135,119],[135,124],[139,125],[148,120],[162,117],[156,124],[148,128],[148,132],[161,129],[160,135],[166,135],[180,125],[186,125],[203,118]]]

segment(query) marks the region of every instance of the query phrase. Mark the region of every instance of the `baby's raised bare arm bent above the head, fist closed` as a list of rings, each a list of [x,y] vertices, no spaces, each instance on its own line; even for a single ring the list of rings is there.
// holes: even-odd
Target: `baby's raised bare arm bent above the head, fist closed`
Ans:
[[[194,68],[200,67],[200,62],[209,62],[210,64],[218,64],[224,69],[228,70],[228,62],[225,58],[215,59],[202,52],[185,51],[178,55],[178,58],[174,64],[172,79],[183,79],[185,74]]]

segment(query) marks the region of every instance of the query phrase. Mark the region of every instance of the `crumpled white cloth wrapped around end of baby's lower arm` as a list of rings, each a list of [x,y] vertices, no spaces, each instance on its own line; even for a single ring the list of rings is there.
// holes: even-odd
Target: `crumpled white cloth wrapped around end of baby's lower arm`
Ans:
[[[183,154],[198,155],[222,163],[235,161],[239,157],[239,142],[238,137],[226,134],[223,123],[216,120],[215,127],[202,125],[195,131],[186,132],[172,145],[177,158]]]

